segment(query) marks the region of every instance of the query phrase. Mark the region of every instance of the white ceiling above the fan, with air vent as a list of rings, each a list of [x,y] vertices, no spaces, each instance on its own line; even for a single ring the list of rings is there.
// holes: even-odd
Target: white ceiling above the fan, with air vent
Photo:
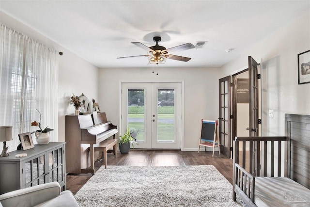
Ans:
[[[208,41],[165,67],[219,67],[310,11],[310,0],[0,0],[0,10],[100,68],[145,67],[147,57],[116,58],[148,54],[130,42],[154,46],[155,35],[166,48]]]

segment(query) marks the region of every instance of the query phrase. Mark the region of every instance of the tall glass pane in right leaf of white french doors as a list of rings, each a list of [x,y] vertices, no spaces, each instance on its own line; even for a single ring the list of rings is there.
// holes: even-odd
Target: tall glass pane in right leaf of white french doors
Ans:
[[[157,142],[175,142],[174,123],[174,89],[158,89]]]

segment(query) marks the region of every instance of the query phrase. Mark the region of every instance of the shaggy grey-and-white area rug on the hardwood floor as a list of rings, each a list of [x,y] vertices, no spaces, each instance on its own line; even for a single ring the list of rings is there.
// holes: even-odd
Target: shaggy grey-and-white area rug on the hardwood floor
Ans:
[[[104,166],[76,193],[81,207],[240,207],[213,165]]]

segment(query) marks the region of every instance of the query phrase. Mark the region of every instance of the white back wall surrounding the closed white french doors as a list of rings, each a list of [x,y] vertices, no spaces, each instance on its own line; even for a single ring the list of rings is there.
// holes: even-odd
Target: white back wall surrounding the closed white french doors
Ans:
[[[100,69],[100,110],[106,112],[107,118],[114,125],[120,125],[120,81],[184,80],[184,150],[197,150],[201,120],[217,120],[218,117],[218,68],[165,68],[164,65],[157,67],[158,76],[155,74],[157,70],[152,73],[152,67]]]

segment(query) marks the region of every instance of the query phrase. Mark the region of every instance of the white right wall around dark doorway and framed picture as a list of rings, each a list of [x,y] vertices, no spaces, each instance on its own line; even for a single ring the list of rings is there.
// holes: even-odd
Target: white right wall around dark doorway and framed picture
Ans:
[[[247,65],[248,56],[262,59],[262,136],[284,135],[285,113],[310,114],[310,84],[298,85],[297,76],[297,54],[309,49],[310,11],[222,67],[220,77],[225,77]]]

